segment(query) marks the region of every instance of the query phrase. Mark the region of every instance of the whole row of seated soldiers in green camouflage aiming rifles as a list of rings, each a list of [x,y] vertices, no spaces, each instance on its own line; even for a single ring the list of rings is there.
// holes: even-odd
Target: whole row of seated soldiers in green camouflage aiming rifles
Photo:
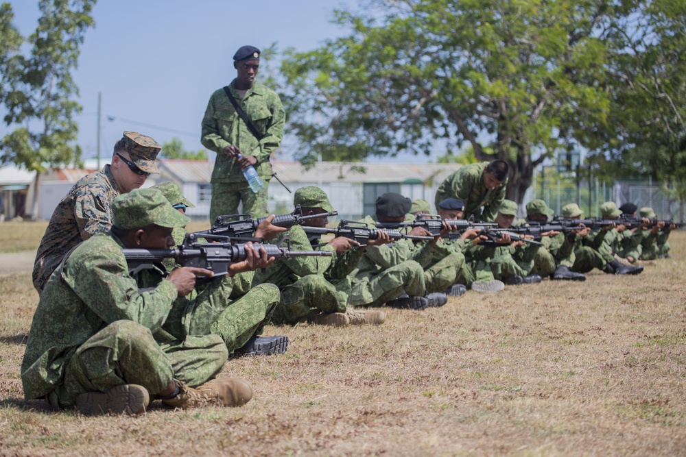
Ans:
[[[615,274],[642,269],[605,253],[588,254],[582,245],[590,236],[585,228],[546,232],[551,240],[547,247],[519,242],[514,232],[490,239],[482,227],[460,224],[459,199],[440,201],[438,232],[416,225],[406,234],[374,230],[364,239],[334,236],[324,243],[320,237],[327,231],[326,215],[334,208],[321,189],[309,186],[294,195],[294,206],[310,219],[288,230],[289,249],[316,249],[331,256],[275,260],[264,247],[257,254],[248,242],[245,260],[199,285],[196,276],[211,278],[213,271],[175,262],[150,270],[130,268],[126,249],[165,250],[189,239],[184,228],[189,219],[183,213],[192,203],[176,184],[154,187],[116,197],[111,230],[69,251],[51,273],[21,367],[26,399],[45,398],[54,407],[76,407],[85,414],[137,414],[156,399],[171,408],[240,406],[252,397],[250,383],[215,377],[229,356],[286,351],[286,336],[261,336],[267,323],[380,324],[385,313],[368,308],[425,310],[444,305],[447,295],[462,295],[466,288],[497,291],[504,282],[532,282],[535,275],[538,280],[543,275],[579,280],[582,273],[575,269],[593,267]],[[545,203],[541,208],[539,214],[548,212]],[[504,202],[498,225],[508,227],[516,210],[514,203]],[[401,227],[416,218],[412,212],[410,199],[386,193],[376,201],[375,216],[362,222]],[[570,205],[563,216],[573,219],[581,213]],[[287,229],[272,224],[274,219],[272,215],[259,223],[255,241],[281,243]],[[641,236],[643,250],[632,251],[634,258],[650,249],[659,252],[643,241],[657,238],[662,228],[649,228],[647,222],[641,227],[646,234],[637,238]],[[608,246],[608,234],[618,230],[614,224],[600,228]],[[560,246],[555,247],[558,238]]]

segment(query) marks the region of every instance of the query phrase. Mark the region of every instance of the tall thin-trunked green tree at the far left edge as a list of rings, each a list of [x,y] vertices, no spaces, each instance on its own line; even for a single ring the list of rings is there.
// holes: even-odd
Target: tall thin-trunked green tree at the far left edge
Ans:
[[[86,29],[95,24],[93,5],[95,0],[39,1],[38,27],[28,38],[30,55],[15,48],[6,62],[2,87],[8,114],[4,121],[17,127],[0,140],[0,160],[36,171],[36,190],[46,167],[80,162],[74,116],[81,106],[73,101],[78,88],[71,71],[77,65]],[[3,5],[3,20],[8,18],[8,10],[9,5]],[[34,219],[37,213],[36,191]]]

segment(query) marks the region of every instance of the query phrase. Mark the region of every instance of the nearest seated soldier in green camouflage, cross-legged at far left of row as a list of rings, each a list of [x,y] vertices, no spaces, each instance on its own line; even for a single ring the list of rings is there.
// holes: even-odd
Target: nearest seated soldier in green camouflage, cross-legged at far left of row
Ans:
[[[64,256],[46,284],[21,365],[25,398],[45,397],[55,408],[77,406],[84,414],[143,412],[150,395],[174,407],[248,402],[252,388],[243,380],[206,383],[226,362],[222,338],[206,328],[163,344],[153,337],[169,323],[177,297],[193,290],[196,275],[212,272],[128,271],[123,247],[171,247],[171,228],[188,218],[155,189],[118,197],[112,212],[111,231]]]

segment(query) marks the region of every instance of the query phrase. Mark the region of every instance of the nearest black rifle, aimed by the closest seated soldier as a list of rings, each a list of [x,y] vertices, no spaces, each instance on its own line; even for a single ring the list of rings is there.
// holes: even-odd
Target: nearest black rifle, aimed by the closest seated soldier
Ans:
[[[224,237],[224,243],[200,243],[195,238],[196,234],[188,234],[183,243],[174,249],[122,249],[129,273],[136,275],[142,270],[152,269],[154,263],[161,262],[165,258],[173,258],[182,267],[208,269],[214,271],[217,277],[228,274],[230,264],[246,260],[248,256],[246,245],[232,245],[228,236]],[[329,251],[291,251],[288,236],[285,236],[278,246],[253,245],[252,249],[257,253],[260,247],[267,251],[268,258],[274,257],[277,260],[305,256],[331,256]]]

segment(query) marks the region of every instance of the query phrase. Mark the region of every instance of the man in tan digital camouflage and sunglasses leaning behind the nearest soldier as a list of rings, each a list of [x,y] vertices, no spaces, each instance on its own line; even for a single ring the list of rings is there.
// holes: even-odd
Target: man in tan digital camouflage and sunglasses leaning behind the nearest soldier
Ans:
[[[39,294],[67,251],[110,230],[112,200],[158,172],[155,158],[160,149],[149,136],[124,132],[115,144],[112,164],[82,177],[58,203],[36,252],[32,277]]]

